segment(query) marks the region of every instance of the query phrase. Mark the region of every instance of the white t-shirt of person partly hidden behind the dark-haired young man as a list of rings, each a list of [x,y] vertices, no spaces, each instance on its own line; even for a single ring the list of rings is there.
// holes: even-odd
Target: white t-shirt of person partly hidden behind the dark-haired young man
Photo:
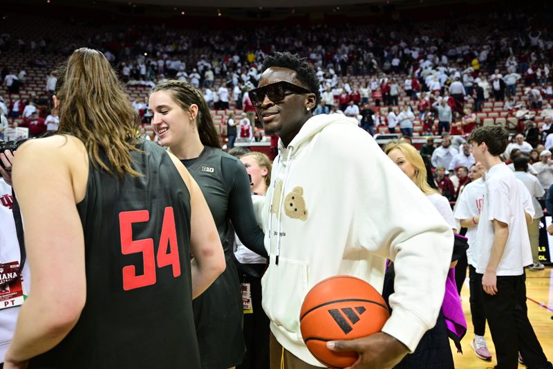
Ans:
[[[476,181],[467,184],[457,199],[454,215],[455,219],[471,219],[471,217],[480,216],[485,192],[486,183],[482,178],[476,179]],[[467,233],[465,234],[465,237],[469,239],[467,260],[473,267],[476,267],[476,260],[474,259],[472,252],[474,251],[474,244],[476,244],[477,230],[478,226],[467,228]]]

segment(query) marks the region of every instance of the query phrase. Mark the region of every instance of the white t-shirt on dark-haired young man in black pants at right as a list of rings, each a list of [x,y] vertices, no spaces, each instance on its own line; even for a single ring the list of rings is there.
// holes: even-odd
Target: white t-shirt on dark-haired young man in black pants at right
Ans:
[[[486,192],[482,215],[476,233],[477,245],[474,248],[476,272],[483,274],[489,262],[491,246],[494,243],[493,220],[507,224],[509,236],[496,276],[521,276],[524,267],[532,264],[532,251],[526,227],[523,191],[520,182],[505,163],[496,164],[486,174]],[[534,209],[527,210],[532,217]]]

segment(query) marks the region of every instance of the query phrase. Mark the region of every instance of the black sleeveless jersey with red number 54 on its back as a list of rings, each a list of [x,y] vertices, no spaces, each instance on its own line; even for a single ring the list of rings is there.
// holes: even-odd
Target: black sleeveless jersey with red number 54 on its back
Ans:
[[[143,177],[121,181],[90,163],[77,204],[86,304],[73,330],[30,368],[200,368],[189,190],[162,147],[138,148],[144,153],[131,156]]]

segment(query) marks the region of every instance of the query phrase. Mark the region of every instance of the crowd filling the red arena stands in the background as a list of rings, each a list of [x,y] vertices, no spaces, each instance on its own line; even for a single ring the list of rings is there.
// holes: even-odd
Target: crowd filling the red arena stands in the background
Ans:
[[[26,16],[11,18],[21,17]],[[25,24],[37,20],[29,17]],[[524,13],[469,15],[453,24],[256,27],[254,33],[47,24],[24,28],[15,22],[12,33],[0,35],[0,96],[6,105],[0,108],[8,124],[36,124],[24,114],[26,105],[50,106],[56,79],[51,71],[60,56],[83,43],[104,51],[118,69],[147,134],[153,134],[149,89],[178,79],[202,89],[221,136],[230,113],[245,113],[256,127],[248,139],[263,136],[247,91],[257,84],[263,57],[281,50],[299,53],[317,67],[317,114],[357,118],[371,134],[460,135],[490,124],[524,133],[528,120],[543,132],[543,109],[553,98],[553,38],[538,16]],[[51,37],[62,32],[74,36]],[[37,116],[55,116],[50,113],[39,109]],[[46,122],[38,124],[32,134],[46,130]]]

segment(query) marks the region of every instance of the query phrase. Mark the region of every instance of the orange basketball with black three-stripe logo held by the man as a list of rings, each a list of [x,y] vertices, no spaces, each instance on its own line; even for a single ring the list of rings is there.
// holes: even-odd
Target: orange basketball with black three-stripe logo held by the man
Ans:
[[[380,332],[389,317],[384,298],[373,286],[352,276],[334,276],[309,291],[299,323],[311,354],[326,366],[344,368],[357,361],[357,353],[334,352],[326,343]]]

